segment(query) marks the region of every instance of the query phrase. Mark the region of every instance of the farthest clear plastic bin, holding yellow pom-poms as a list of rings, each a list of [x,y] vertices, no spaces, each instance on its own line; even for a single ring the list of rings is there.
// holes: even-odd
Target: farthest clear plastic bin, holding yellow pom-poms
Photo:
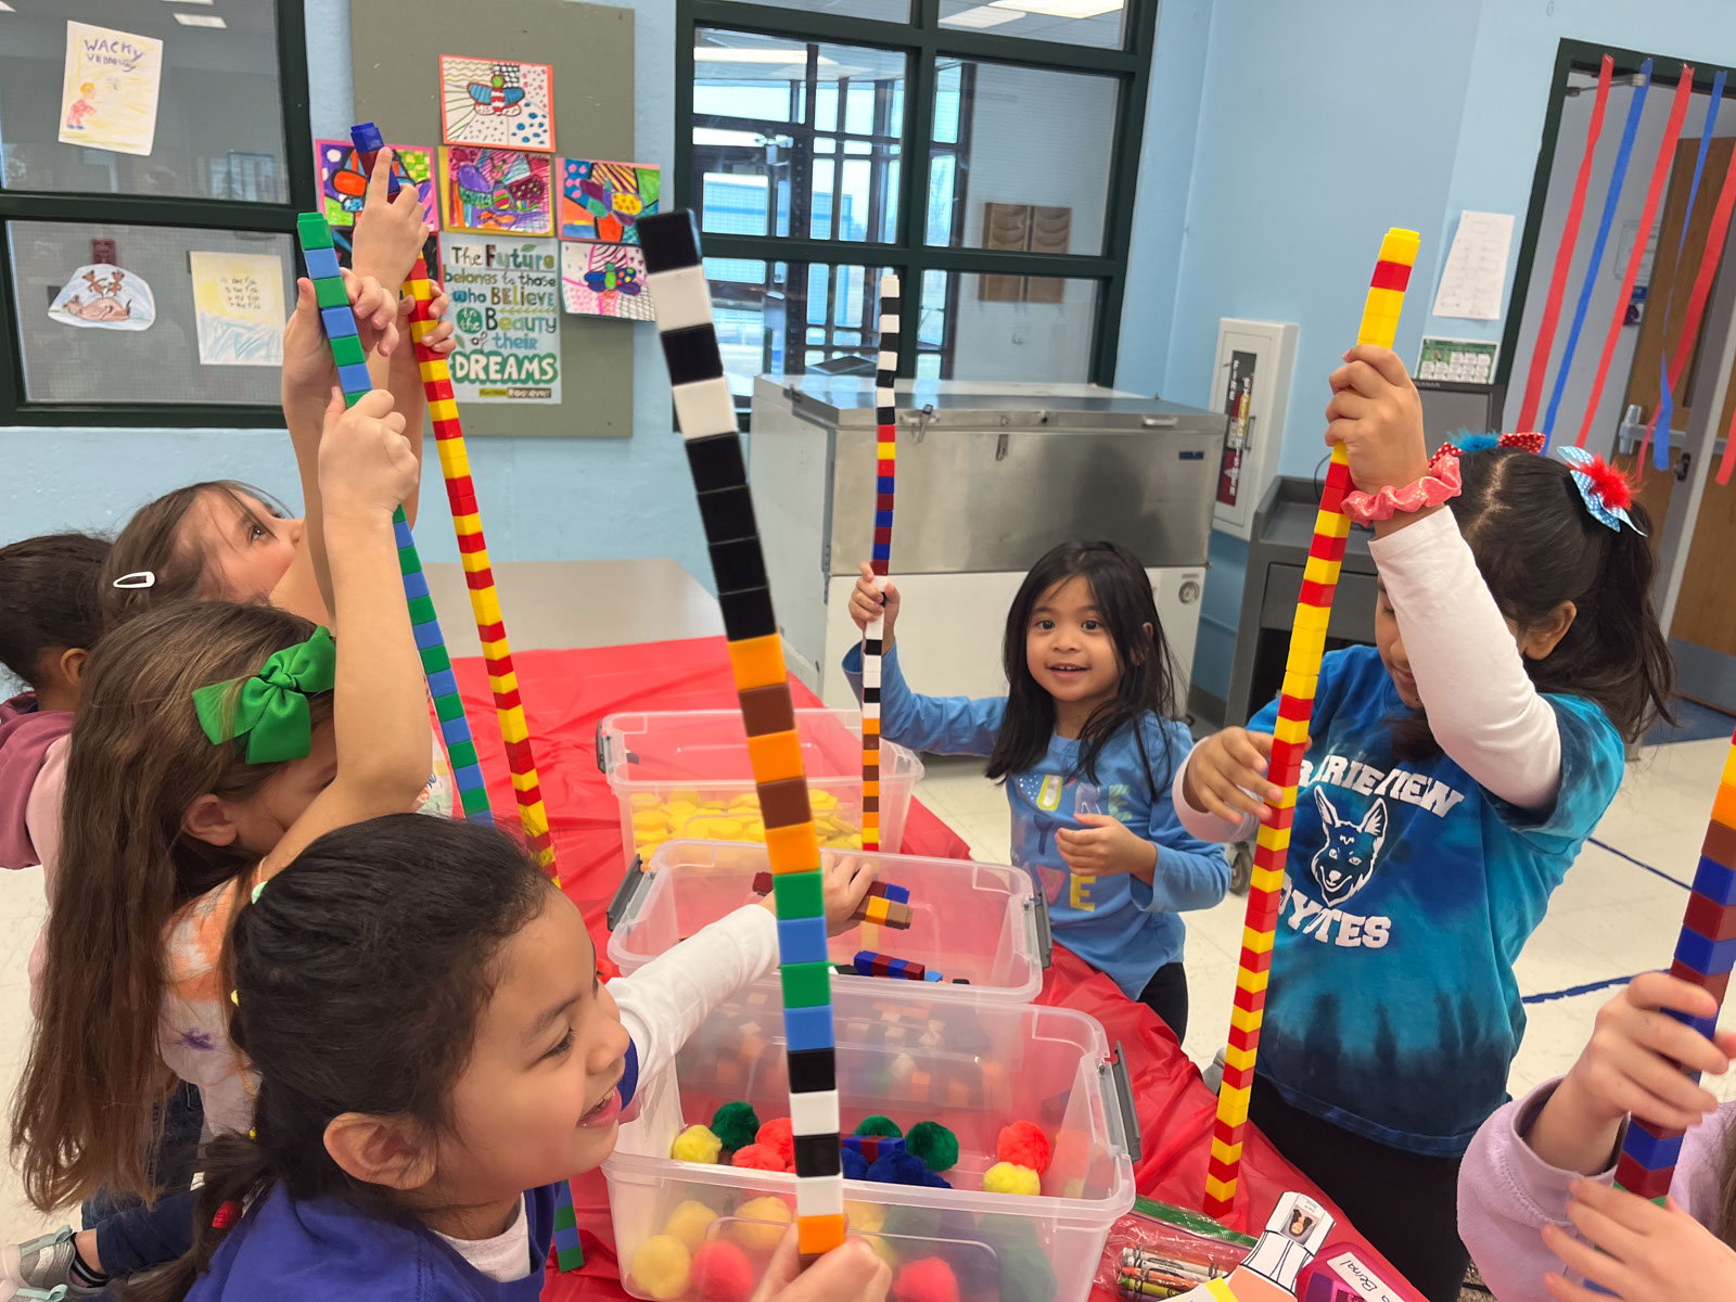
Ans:
[[[863,743],[856,710],[797,710],[819,844],[861,849]],[[665,840],[764,840],[748,734],[738,710],[611,713],[597,726],[597,767],[621,806],[621,851],[649,858]],[[880,845],[904,838],[922,760],[880,741]]]

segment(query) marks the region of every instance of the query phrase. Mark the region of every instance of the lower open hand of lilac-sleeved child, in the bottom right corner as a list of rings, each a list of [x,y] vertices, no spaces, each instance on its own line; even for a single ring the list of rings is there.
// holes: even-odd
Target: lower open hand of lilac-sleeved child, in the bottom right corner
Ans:
[[[1597,1180],[1575,1180],[1568,1219],[1583,1236],[1543,1226],[1543,1245],[1562,1266],[1608,1293],[1545,1274],[1543,1286],[1562,1302],[1680,1302],[1736,1299],[1736,1250],[1694,1220],[1672,1198],[1658,1207]]]

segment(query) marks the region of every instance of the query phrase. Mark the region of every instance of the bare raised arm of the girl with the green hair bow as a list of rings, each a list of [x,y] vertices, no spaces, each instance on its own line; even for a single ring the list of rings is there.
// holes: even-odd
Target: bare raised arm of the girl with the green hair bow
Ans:
[[[427,783],[427,696],[392,533],[392,510],[417,481],[403,429],[391,394],[375,389],[345,411],[333,391],[319,477],[342,630],[333,693],[337,771],[266,856],[266,877],[332,828],[410,809]]]

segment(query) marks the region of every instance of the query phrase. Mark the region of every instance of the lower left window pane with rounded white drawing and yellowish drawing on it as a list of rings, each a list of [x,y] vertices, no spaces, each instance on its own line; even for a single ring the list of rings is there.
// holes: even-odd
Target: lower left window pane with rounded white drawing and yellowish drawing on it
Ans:
[[[295,243],[286,234],[189,231],[168,226],[95,226],[90,222],[9,222],[12,292],[24,352],[24,399],[31,403],[262,403],[281,399],[281,368],[269,345],[281,339],[285,311],[295,302]],[[111,240],[115,264],[149,286],[148,328],[75,325],[101,306],[104,321],[139,321],[148,311],[128,283],[111,274],[82,293],[71,316],[49,304],[82,266],[94,262],[90,243]],[[208,340],[222,356],[255,356],[248,365],[200,363],[198,314],[193,307],[189,253],[243,253],[278,264],[276,279],[260,290],[262,312],[276,325],[240,319],[222,339]],[[259,266],[259,264],[255,264]],[[214,318],[222,321],[224,318]],[[264,345],[264,351],[259,351]],[[281,358],[281,352],[278,352]]]

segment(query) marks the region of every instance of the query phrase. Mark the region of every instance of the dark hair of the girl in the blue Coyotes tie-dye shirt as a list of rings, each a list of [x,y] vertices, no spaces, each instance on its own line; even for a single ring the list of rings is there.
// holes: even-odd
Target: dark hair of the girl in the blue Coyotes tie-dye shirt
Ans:
[[[1585,505],[1568,465],[1519,448],[1460,458],[1463,491],[1451,500],[1483,582],[1502,615],[1521,630],[1562,604],[1573,627],[1543,660],[1526,656],[1540,693],[1594,701],[1634,745],[1658,717],[1670,717],[1675,663],[1651,604],[1651,517],[1628,507],[1637,528],[1620,531]],[[1644,533],[1642,533],[1644,531]],[[1394,724],[1394,752],[1418,759],[1437,746],[1420,713]]]

